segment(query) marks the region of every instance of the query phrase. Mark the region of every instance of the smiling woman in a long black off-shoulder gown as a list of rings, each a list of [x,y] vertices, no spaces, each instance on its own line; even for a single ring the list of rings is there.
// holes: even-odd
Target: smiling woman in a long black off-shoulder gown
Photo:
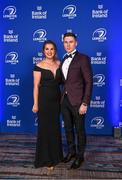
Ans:
[[[60,61],[56,59],[56,45],[44,42],[45,58],[33,72],[34,105],[32,111],[38,115],[38,133],[35,167],[53,169],[63,158],[60,130]]]

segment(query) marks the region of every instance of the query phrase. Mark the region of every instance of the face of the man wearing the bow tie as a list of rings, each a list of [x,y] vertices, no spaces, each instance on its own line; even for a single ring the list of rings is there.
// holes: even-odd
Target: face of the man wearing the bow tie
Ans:
[[[77,41],[74,37],[68,36],[64,38],[64,49],[66,52],[71,53],[77,46]]]

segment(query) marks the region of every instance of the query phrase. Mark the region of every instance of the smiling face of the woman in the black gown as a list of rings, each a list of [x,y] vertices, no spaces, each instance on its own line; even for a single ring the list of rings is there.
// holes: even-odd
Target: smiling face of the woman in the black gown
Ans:
[[[45,48],[44,48],[44,55],[46,58],[48,59],[52,59],[55,57],[55,48],[53,46],[53,44],[46,44]]]

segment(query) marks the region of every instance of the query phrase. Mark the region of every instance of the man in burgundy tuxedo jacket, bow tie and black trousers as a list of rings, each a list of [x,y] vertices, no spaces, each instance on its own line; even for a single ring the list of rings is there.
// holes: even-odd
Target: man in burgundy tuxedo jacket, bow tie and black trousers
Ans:
[[[85,114],[92,94],[92,69],[89,57],[76,50],[75,34],[64,34],[63,42],[67,53],[61,65],[64,82],[61,111],[68,145],[64,162],[75,158],[70,169],[76,169],[84,160]]]

